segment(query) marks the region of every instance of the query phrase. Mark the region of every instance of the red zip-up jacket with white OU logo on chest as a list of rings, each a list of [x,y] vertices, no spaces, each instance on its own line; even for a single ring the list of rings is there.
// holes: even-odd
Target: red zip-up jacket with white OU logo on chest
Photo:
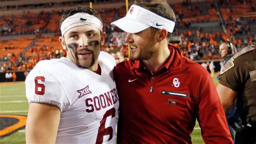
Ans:
[[[210,74],[199,64],[171,54],[155,73],[142,61],[114,68],[120,100],[118,143],[192,143],[196,119],[205,143],[233,143]]]

